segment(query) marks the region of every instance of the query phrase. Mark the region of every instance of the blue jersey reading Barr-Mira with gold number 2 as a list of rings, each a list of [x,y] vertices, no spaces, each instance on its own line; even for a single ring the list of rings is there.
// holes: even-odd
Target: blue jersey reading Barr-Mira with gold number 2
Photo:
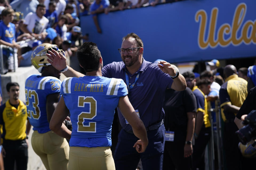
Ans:
[[[66,78],[61,95],[70,111],[70,146],[111,146],[111,128],[119,97],[127,95],[122,79],[84,76]]]

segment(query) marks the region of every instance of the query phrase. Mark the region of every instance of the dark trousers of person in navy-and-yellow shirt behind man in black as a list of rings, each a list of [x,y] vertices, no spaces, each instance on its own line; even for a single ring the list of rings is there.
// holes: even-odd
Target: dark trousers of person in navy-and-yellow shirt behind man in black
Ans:
[[[205,147],[211,138],[211,128],[202,128],[193,147],[193,169],[205,169]]]

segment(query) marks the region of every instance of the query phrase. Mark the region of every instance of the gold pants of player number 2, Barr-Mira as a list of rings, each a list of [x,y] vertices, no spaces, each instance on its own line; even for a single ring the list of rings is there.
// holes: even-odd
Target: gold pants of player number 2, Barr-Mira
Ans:
[[[69,170],[115,170],[110,147],[70,147]]]

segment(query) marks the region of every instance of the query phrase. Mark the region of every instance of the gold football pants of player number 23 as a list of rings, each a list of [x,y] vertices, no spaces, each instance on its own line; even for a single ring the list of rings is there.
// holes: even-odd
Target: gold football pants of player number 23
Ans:
[[[38,133],[34,131],[31,145],[40,156],[47,170],[66,170],[69,162],[69,143],[53,131]]]

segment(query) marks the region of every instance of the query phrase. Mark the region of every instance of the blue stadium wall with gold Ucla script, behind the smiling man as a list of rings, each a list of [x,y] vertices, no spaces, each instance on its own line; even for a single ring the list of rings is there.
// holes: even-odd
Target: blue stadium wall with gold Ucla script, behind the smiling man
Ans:
[[[81,17],[83,34],[98,44],[104,65],[121,61],[122,37],[134,32],[145,60],[207,61],[256,56],[256,1],[187,0]]]

